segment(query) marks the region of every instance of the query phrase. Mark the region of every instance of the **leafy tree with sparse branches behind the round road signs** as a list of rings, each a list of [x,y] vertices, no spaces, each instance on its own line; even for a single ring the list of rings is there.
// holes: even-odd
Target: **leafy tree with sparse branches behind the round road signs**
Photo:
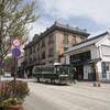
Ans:
[[[34,10],[34,1],[0,0],[0,73],[2,62],[10,53],[12,38],[18,36],[22,43],[28,41],[29,24],[38,19]]]

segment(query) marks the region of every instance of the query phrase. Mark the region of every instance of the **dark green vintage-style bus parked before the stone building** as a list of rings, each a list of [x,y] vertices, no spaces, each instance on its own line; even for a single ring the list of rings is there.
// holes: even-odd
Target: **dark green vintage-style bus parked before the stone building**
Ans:
[[[70,64],[55,63],[53,65],[34,66],[32,76],[37,81],[51,84],[68,84],[74,79],[75,68]]]

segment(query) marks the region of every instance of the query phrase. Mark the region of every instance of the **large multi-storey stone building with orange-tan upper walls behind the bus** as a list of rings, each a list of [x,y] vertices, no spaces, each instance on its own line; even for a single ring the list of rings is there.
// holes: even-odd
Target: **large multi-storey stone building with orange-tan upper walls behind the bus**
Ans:
[[[62,54],[73,45],[86,41],[86,30],[55,22],[24,47],[25,64],[30,73],[34,65],[47,65],[61,62]]]

